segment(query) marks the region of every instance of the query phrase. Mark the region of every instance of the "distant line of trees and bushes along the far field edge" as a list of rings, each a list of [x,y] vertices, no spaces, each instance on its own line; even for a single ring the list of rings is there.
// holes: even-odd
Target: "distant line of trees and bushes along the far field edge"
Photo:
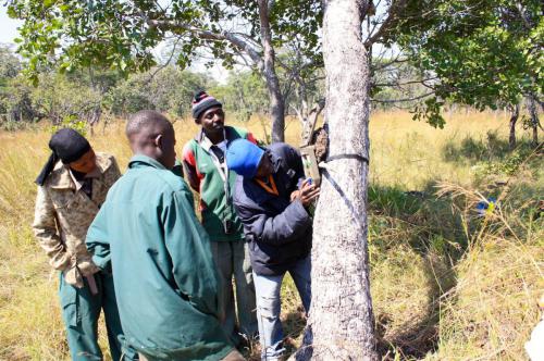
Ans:
[[[390,49],[391,50],[391,49]],[[458,90],[472,82],[468,76],[438,77],[429,70],[425,61],[409,59],[407,52],[387,49],[375,54],[371,62],[370,94],[373,110],[405,109],[415,113],[416,120],[425,120],[433,126],[443,126],[443,108],[468,104],[479,110],[502,108],[511,113],[510,147],[516,146],[515,128],[521,109],[520,98],[526,98],[527,113],[521,119],[524,127],[533,128],[533,142],[537,144],[539,111],[542,109],[536,92],[522,90],[519,78],[529,73],[514,67],[512,86],[504,83],[480,79],[480,87],[470,85],[471,91]],[[190,116],[193,95],[207,89],[219,98],[232,119],[247,121],[252,114],[271,117],[271,98],[267,79],[251,67],[231,70],[225,84],[218,83],[210,75],[186,70],[183,64],[173,63],[175,45],[170,43],[168,59],[157,59],[158,65],[144,72],[123,73],[119,70],[76,67],[59,72],[55,66],[42,66],[28,77],[28,63],[18,58],[8,46],[0,46],[0,123],[2,128],[17,128],[17,125],[44,119],[53,124],[77,120],[96,125],[101,119],[126,117],[141,109],[153,109],[172,117]],[[436,52],[435,52],[436,53]],[[511,51],[512,57],[519,52]],[[479,53],[467,51],[477,57]],[[324,72],[322,64],[311,64],[300,49],[285,46],[275,55],[279,62],[276,76],[285,102],[284,113],[297,116],[304,124],[311,116],[318,116],[324,107]],[[468,57],[465,55],[463,57]],[[413,58],[413,55],[412,55]],[[514,62],[514,61],[512,61]],[[521,62],[521,61],[519,61]],[[468,64],[489,63],[489,61]],[[524,64],[521,62],[521,64]],[[467,65],[465,65],[467,66]],[[519,65],[518,67],[521,67]],[[185,70],[184,70],[185,69]],[[449,70],[449,69],[448,69]],[[466,71],[467,74],[485,73],[485,70]],[[440,78],[440,80],[438,80]],[[444,79],[453,79],[445,85]],[[499,88],[494,87],[500,85]],[[533,86],[535,83],[529,83]],[[480,89],[478,92],[477,90]],[[509,92],[504,92],[507,89]],[[502,92],[503,91],[503,92]],[[436,95],[440,92],[438,98]],[[449,98],[449,99],[448,99]]]

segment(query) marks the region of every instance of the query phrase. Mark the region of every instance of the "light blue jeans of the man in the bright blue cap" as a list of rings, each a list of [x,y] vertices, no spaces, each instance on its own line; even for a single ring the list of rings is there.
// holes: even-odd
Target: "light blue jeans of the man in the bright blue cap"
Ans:
[[[288,270],[302,306],[308,313],[311,301],[311,260],[310,256],[298,261]],[[280,360],[283,348],[283,329],[280,321],[282,300],[280,290],[284,274],[277,276],[258,275],[254,272],[255,291],[257,295],[257,322],[261,343],[261,360]]]

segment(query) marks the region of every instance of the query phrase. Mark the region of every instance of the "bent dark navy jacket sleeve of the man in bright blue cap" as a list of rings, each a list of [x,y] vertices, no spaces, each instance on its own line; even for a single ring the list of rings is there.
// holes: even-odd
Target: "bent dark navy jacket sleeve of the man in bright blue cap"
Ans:
[[[271,216],[249,204],[234,202],[236,212],[257,241],[282,245],[296,240],[311,227],[311,219],[300,200],[295,200],[280,214]]]

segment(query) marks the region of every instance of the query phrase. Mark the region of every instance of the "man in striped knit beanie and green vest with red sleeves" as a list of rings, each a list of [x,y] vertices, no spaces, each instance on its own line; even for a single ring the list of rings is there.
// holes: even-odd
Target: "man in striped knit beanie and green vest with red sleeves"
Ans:
[[[243,341],[240,334],[244,338],[251,338],[257,335],[258,327],[249,250],[232,202],[236,174],[226,166],[225,152],[235,139],[256,140],[246,129],[225,126],[223,105],[206,91],[195,95],[193,117],[200,125],[200,130],[185,145],[183,164],[187,180],[200,194],[201,222],[210,235],[212,256],[223,283],[223,326],[233,343],[239,345]]]

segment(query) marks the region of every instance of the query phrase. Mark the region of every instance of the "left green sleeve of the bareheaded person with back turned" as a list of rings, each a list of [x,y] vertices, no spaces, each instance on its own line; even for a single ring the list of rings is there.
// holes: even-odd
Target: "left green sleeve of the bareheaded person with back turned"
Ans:
[[[92,254],[92,262],[101,270],[108,269],[111,262],[107,212],[108,204],[104,203],[90,224],[85,240],[87,250]]]

